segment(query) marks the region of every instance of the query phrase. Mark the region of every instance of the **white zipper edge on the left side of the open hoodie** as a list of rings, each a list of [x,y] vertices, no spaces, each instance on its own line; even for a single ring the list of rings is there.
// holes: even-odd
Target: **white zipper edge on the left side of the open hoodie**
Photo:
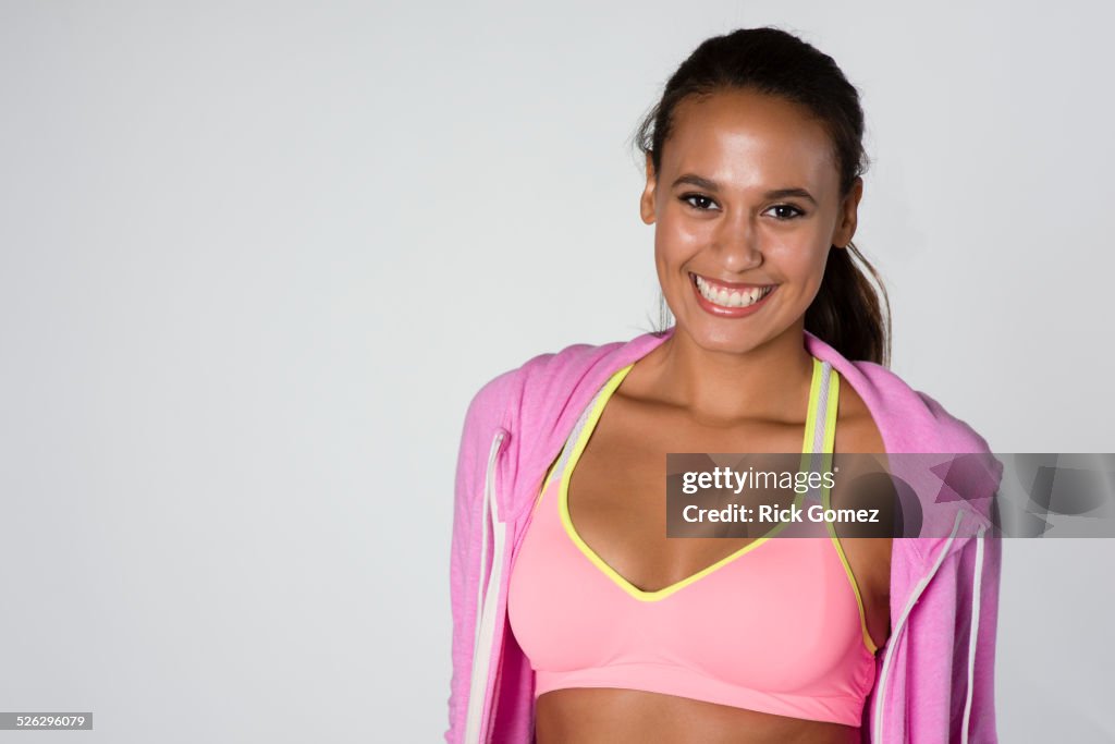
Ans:
[[[495,636],[495,608],[503,579],[503,552],[507,525],[500,520],[500,505],[495,497],[495,463],[507,432],[498,429],[492,437],[487,470],[484,472],[484,505],[481,510],[481,573],[487,563],[488,519],[492,520],[492,570],[487,581],[483,576],[476,587],[476,636],[473,641],[473,674],[468,684],[468,711],[465,716],[466,744],[483,741],[481,725],[487,698],[487,678],[492,665],[492,646]]]

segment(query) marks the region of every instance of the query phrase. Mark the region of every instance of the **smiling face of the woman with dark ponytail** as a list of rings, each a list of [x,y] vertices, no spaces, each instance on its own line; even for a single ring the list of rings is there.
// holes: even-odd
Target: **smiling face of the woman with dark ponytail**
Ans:
[[[831,247],[855,232],[862,182],[845,199],[832,141],[808,112],[752,90],[688,97],[661,167],[647,161],[642,219],[677,330],[744,352],[799,332]]]

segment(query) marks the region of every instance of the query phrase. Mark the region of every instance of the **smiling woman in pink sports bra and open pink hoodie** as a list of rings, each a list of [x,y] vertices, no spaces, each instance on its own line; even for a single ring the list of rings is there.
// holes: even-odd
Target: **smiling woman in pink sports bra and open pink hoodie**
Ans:
[[[855,89],[802,40],[744,29],[681,65],[641,135],[676,323],[536,357],[473,400],[447,740],[993,742],[986,523],[666,538],[666,453],[987,452],[883,366],[850,255]]]

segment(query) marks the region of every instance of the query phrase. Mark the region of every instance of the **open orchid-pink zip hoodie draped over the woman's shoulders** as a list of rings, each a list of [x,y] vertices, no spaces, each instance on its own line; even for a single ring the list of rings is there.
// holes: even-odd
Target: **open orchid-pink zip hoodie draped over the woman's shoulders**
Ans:
[[[534,674],[507,622],[511,567],[530,506],[592,396],[670,332],[535,357],[485,385],[469,405],[449,569],[450,744],[533,741]],[[860,394],[889,454],[989,452],[967,424],[885,367],[849,361],[808,331],[805,347]],[[985,534],[985,514],[954,513],[948,537],[893,541],[891,637],[878,655],[863,742],[998,741],[993,665],[1001,545]]]

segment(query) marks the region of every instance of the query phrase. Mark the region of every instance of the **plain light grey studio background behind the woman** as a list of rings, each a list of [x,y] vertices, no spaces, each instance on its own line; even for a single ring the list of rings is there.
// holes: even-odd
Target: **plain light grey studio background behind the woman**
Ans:
[[[96,729],[0,741],[440,737],[465,407],[650,328],[627,141],[739,26],[863,93],[893,369],[1115,452],[1103,4],[2,2],[0,709]],[[1007,544],[1005,742],[1115,738],[1113,548]]]

